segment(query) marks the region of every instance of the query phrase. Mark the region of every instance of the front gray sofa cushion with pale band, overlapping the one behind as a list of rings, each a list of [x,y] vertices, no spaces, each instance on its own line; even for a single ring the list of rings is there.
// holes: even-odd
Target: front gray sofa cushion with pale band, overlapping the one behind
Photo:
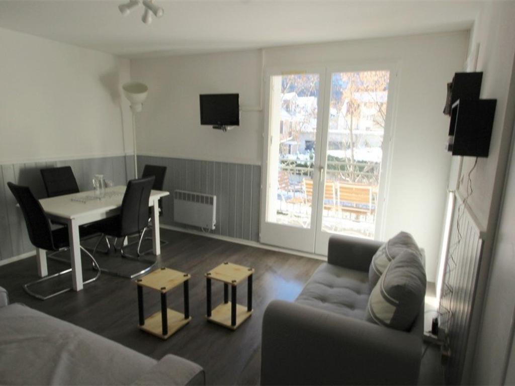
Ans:
[[[412,251],[402,252],[372,290],[366,320],[399,330],[409,329],[420,312],[425,287],[422,260]]]

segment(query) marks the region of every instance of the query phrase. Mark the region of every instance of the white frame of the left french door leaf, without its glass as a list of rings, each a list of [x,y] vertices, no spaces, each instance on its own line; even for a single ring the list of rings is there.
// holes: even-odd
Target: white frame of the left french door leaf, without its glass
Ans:
[[[322,113],[324,106],[324,83],[325,83],[325,67],[316,65],[296,65],[294,66],[281,66],[269,67],[265,71],[265,98],[263,105],[263,120],[264,120],[264,133],[263,133],[263,166],[261,173],[261,215],[260,215],[260,241],[264,244],[277,245],[283,248],[294,249],[313,253],[315,249],[315,225],[316,225],[316,206],[318,201],[318,180],[319,180],[319,167],[320,167],[320,144],[322,139]],[[313,197],[312,197],[312,210],[311,210],[311,226],[310,228],[302,228],[297,226],[288,226],[285,224],[278,224],[266,221],[268,212],[268,186],[270,185],[269,174],[269,150],[274,140],[270,132],[270,96],[272,93],[270,87],[270,80],[272,76],[280,75],[295,75],[295,74],[318,74],[319,75],[319,89],[317,99],[317,131],[315,135],[315,157],[314,157],[314,171],[313,171]],[[279,138],[277,138],[279,139]]]

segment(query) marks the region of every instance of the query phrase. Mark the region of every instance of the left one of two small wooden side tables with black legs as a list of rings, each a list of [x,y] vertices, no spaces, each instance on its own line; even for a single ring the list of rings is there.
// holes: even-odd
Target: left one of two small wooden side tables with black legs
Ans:
[[[136,280],[138,285],[138,310],[140,315],[140,329],[162,339],[168,339],[192,319],[190,317],[190,294],[188,280],[191,275],[169,268],[161,268]],[[171,289],[184,286],[184,313],[168,308],[166,293]],[[143,310],[143,287],[157,290],[161,293],[161,312],[156,312],[145,319]]]

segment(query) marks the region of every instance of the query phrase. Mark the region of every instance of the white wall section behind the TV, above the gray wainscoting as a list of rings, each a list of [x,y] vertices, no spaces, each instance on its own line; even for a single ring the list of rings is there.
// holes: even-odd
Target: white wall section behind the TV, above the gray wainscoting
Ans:
[[[242,112],[223,133],[200,126],[199,94],[239,93],[241,106],[260,102],[261,51],[131,60],[131,76],[149,87],[136,116],[138,153],[261,164],[261,112]]]

